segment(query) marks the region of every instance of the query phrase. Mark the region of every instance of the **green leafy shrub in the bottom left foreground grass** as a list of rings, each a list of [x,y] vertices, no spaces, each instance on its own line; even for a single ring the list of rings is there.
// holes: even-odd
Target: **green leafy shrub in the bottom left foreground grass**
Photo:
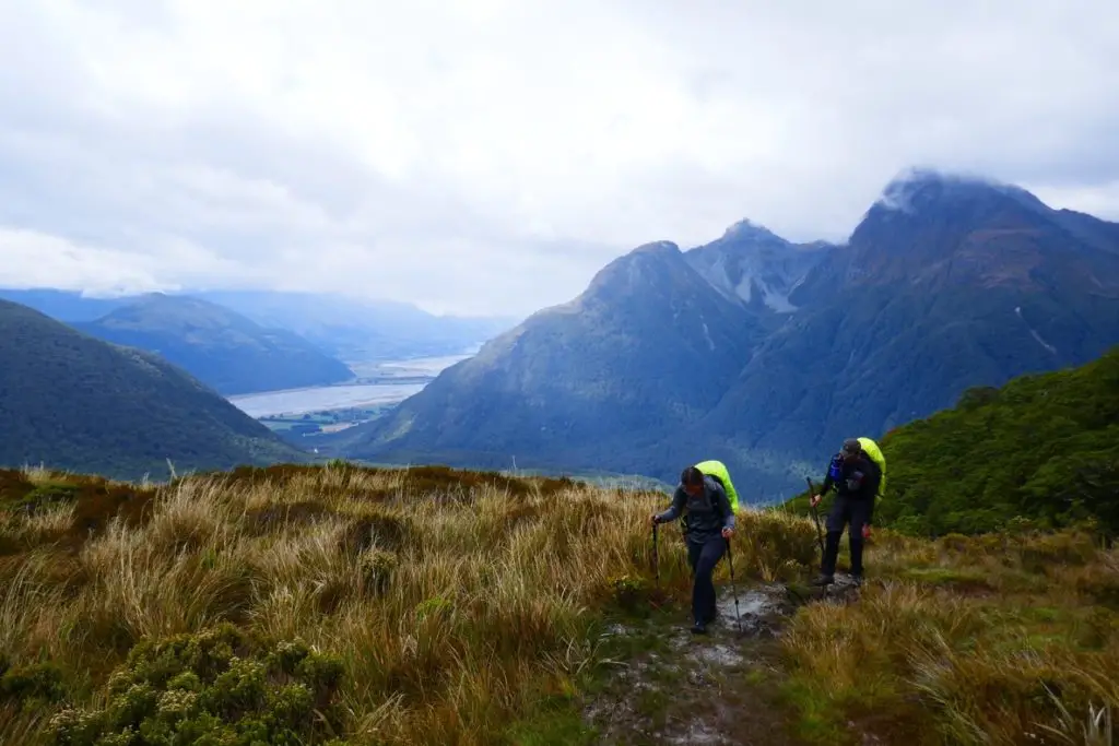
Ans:
[[[50,721],[58,746],[330,744],[339,660],[301,642],[265,645],[231,624],[142,642],[109,681],[102,709]]]

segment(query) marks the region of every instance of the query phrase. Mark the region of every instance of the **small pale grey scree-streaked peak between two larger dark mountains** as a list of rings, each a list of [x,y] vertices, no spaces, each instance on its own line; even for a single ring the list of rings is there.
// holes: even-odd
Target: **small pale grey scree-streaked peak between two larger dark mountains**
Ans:
[[[794,311],[790,294],[831,248],[792,244],[769,229],[742,220],[721,238],[685,253],[688,263],[727,299],[761,310]]]

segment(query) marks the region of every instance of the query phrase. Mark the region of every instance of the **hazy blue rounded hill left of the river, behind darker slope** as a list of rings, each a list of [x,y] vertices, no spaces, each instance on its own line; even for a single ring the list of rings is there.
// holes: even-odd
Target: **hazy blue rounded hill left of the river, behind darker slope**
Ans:
[[[152,293],[76,329],[154,352],[232,396],[352,379],[354,371],[285,329],[265,329],[196,298]]]

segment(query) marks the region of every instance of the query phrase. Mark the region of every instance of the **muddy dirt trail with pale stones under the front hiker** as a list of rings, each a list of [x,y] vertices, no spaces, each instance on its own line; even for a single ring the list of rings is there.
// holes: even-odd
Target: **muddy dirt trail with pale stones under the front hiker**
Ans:
[[[849,582],[837,577],[826,594],[844,599]],[[817,601],[783,585],[739,584],[742,633],[734,596],[720,589],[718,620],[705,635],[689,630],[688,611],[614,625],[609,634],[617,672],[584,710],[601,734],[599,744],[771,746],[797,745],[788,710],[777,700],[782,673],[778,660],[783,622],[799,603]]]

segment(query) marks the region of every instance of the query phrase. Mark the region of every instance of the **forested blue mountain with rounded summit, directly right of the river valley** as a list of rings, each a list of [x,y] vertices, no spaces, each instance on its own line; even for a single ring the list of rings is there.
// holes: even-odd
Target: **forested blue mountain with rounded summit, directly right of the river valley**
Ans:
[[[358,429],[350,452],[629,471],[623,454],[707,413],[768,331],[675,244],[647,244]]]

